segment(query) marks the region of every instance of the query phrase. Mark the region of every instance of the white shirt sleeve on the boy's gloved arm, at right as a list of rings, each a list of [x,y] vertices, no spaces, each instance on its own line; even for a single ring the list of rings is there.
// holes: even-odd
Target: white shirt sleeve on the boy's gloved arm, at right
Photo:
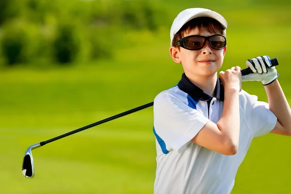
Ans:
[[[269,104],[258,101],[258,97],[246,93],[245,118],[254,137],[269,133],[275,128],[277,117],[269,109]]]

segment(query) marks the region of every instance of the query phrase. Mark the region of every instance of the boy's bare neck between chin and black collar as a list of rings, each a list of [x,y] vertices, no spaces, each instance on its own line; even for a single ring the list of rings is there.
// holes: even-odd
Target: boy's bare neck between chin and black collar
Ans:
[[[201,76],[189,75],[185,72],[185,75],[192,83],[194,83],[197,87],[202,89],[204,92],[206,92],[212,97],[215,96],[214,89],[216,86],[217,74],[214,74],[209,77],[201,77]]]

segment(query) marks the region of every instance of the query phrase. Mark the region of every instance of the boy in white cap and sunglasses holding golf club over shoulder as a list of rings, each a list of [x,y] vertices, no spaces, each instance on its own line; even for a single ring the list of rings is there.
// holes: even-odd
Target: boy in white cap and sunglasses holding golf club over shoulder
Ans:
[[[291,109],[268,56],[217,71],[226,53],[223,16],[202,8],[182,11],[171,27],[170,54],[184,69],[178,85],[154,100],[157,148],[155,194],[229,194],[254,137],[291,134]],[[269,104],[241,88],[262,81]]]

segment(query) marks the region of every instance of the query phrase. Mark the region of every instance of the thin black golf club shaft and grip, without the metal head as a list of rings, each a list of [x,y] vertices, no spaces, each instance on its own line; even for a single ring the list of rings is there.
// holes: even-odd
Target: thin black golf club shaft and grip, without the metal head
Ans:
[[[279,65],[277,58],[271,59],[271,64],[272,64],[272,66]],[[246,69],[242,69],[242,75],[247,75],[247,74],[250,74],[250,73],[253,73],[253,71],[250,69],[250,67],[248,67],[248,68],[246,68]],[[80,129],[72,130],[72,131],[67,132],[67,133],[65,133],[65,134],[63,134],[63,135],[60,135],[60,136],[58,136],[58,137],[52,138],[52,139],[47,140],[47,141],[44,141],[44,142],[40,142],[40,146],[44,146],[44,145],[46,145],[46,144],[49,144],[50,142],[53,142],[53,141],[59,140],[59,139],[64,138],[64,137],[66,137],[66,136],[72,135],[72,134],[74,134],[74,133],[78,133],[78,132],[80,132],[80,131],[82,131],[82,130],[89,129],[89,128],[92,128],[92,127],[95,127],[95,126],[100,125],[100,124],[102,124],[102,123],[106,123],[106,122],[108,122],[108,121],[112,121],[112,120],[114,120],[114,119],[116,119],[116,118],[120,118],[120,117],[122,117],[122,116],[125,116],[125,115],[128,115],[128,114],[131,114],[131,113],[134,113],[134,112],[137,112],[137,111],[140,111],[140,110],[146,109],[146,108],[151,107],[151,106],[153,106],[153,105],[154,105],[154,102],[150,102],[150,103],[147,103],[147,104],[145,104],[145,105],[142,105],[142,106],[136,107],[136,108],[134,108],[134,109],[131,109],[131,110],[129,110],[129,111],[126,111],[126,112],[123,112],[123,113],[116,114],[116,115],[114,115],[114,116],[108,117],[108,118],[103,119],[103,120],[101,120],[101,121],[97,121],[96,123],[92,123],[92,124],[90,124],[90,125],[87,125],[87,126],[85,126],[85,127],[80,128]]]

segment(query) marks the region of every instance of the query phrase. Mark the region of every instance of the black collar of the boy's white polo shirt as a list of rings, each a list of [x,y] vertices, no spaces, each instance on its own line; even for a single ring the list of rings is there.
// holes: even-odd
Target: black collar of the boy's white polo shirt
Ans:
[[[181,80],[178,82],[178,87],[183,92],[187,93],[190,97],[196,100],[208,101],[212,97],[192,83],[185,73],[182,74]],[[215,89],[214,89],[215,98],[221,101],[224,101],[224,88],[219,78],[217,78]]]

